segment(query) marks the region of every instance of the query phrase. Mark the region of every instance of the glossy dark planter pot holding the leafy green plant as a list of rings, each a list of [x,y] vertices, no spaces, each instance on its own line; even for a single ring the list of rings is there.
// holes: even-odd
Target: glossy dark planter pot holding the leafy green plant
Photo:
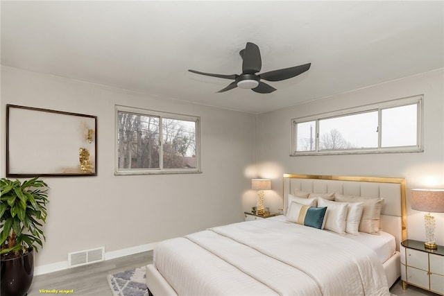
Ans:
[[[12,259],[1,259],[1,296],[24,296],[34,277],[34,250]]]

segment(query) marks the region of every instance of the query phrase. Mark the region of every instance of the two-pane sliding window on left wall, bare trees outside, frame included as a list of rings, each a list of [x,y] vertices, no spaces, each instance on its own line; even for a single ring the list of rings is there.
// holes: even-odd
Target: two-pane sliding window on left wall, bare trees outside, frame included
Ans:
[[[199,117],[116,106],[116,175],[199,173]]]

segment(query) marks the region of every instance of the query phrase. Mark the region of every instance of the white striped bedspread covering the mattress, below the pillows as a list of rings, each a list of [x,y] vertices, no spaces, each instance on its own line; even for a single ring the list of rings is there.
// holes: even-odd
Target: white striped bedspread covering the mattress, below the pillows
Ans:
[[[153,263],[178,295],[390,295],[373,250],[280,219],[164,241]]]

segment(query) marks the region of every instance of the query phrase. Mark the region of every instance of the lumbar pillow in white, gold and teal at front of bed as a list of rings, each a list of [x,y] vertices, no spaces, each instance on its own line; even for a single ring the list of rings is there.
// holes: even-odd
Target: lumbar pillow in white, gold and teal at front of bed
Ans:
[[[291,202],[287,220],[300,225],[322,229],[327,207],[309,207],[298,202]]]

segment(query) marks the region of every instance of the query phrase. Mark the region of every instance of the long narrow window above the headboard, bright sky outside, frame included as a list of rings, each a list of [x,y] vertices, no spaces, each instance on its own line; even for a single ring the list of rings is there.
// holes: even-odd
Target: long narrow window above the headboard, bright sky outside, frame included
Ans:
[[[422,151],[422,96],[293,119],[291,155]]]

